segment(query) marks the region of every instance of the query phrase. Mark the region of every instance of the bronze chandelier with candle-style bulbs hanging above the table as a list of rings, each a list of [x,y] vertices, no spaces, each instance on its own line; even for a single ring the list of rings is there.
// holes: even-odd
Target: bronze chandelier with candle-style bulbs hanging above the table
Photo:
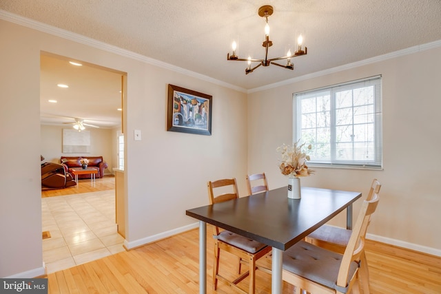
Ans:
[[[233,45],[232,45],[232,47],[233,47],[233,54],[232,55],[229,55],[229,53],[227,54],[227,60],[247,61],[248,62],[248,67],[245,69],[245,74],[249,74],[250,72],[253,72],[260,65],[269,66],[271,64],[278,65],[280,67],[285,67],[288,70],[294,70],[294,64],[291,63],[291,58],[307,54],[307,48],[306,47],[305,47],[305,51],[302,50],[303,38],[302,38],[302,35],[300,34],[300,36],[298,37],[298,40],[297,40],[298,48],[297,48],[297,51],[294,52],[294,54],[291,54],[291,50],[288,50],[287,56],[276,57],[274,59],[268,59],[268,48],[273,45],[273,42],[269,41],[268,17],[271,14],[273,14],[273,11],[274,11],[273,7],[269,6],[269,5],[262,6],[258,10],[259,17],[265,17],[265,21],[266,21],[266,25],[265,25],[265,41],[263,41],[263,43],[262,43],[262,46],[265,48],[265,59],[252,59],[251,56],[248,56],[248,59],[240,59],[236,55],[237,44],[236,44],[235,41],[233,41]],[[275,63],[274,62],[274,61],[283,60],[283,59],[287,59],[287,64],[286,65],[281,65],[279,63]],[[255,67],[252,67],[251,66],[252,62],[258,62],[258,65],[256,65]]]

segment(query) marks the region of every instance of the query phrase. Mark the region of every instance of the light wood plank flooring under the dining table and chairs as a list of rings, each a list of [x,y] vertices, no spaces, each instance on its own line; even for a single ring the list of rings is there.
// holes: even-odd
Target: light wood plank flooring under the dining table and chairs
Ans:
[[[233,293],[222,282],[212,290],[212,248],[207,233],[207,293]],[[227,253],[222,258],[220,271],[234,273],[237,260]],[[368,241],[367,260],[373,294],[441,293],[441,258]],[[256,294],[271,293],[271,276],[256,276]],[[240,284],[247,283],[248,278]],[[48,284],[49,293],[198,293],[198,230],[52,273]],[[283,293],[293,291],[284,282]]]

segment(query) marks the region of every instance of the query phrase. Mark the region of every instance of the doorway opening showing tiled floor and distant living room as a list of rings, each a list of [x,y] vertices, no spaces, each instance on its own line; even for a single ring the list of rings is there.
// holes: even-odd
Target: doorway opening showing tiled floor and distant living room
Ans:
[[[123,72],[41,52],[42,164],[61,165],[62,156],[102,156],[107,163],[95,181],[79,179],[72,187],[42,191],[43,232],[50,235],[43,239],[47,273],[125,250],[116,227],[113,175],[121,162],[115,138],[122,134],[125,77]],[[74,134],[72,130],[89,133],[88,148],[80,146],[70,153],[63,147],[65,134]]]

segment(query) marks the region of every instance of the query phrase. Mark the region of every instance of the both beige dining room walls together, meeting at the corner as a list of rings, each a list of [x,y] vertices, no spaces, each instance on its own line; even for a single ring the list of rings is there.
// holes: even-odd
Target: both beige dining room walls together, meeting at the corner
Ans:
[[[185,209],[207,204],[207,180],[234,176],[242,195],[247,172],[267,172],[271,188],[286,185],[277,169],[275,149],[291,141],[292,93],[382,74],[384,170],[318,169],[302,183],[367,193],[371,179],[378,178],[382,198],[369,228],[371,237],[441,255],[437,185],[441,137],[436,124],[441,108],[441,48],[255,92],[247,99],[247,94],[208,78],[7,21],[0,21],[0,39],[0,151],[8,167],[0,169],[0,277],[34,277],[43,269],[41,51],[127,73],[123,122],[127,246],[194,226]],[[212,136],[166,132],[169,83],[213,96]],[[134,129],[141,130],[143,140],[134,141]],[[340,217],[334,223],[344,220]]]

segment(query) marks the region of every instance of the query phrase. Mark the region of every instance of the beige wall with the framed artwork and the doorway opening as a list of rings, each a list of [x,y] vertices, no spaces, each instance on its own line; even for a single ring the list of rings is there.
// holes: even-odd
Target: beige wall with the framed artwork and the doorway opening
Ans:
[[[245,195],[247,96],[209,82],[0,20],[3,129],[0,171],[0,277],[41,275],[40,52],[127,73],[124,101],[126,245],[156,240],[196,220],[185,209],[208,204],[207,180],[238,178]],[[93,42],[90,42],[93,43]],[[130,54],[127,54],[130,55]],[[212,136],[167,132],[167,85],[213,96]],[[143,140],[134,141],[134,129]]]

